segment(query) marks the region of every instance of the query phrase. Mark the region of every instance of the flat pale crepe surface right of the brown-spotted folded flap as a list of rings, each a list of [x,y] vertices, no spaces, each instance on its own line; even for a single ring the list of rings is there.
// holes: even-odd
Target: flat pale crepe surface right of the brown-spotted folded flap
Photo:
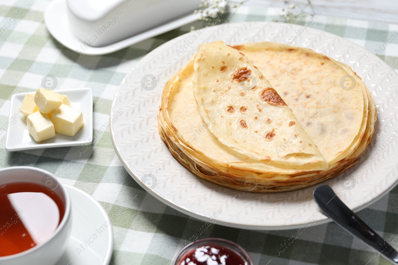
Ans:
[[[283,48],[270,42],[236,48],[252,60],[291,107],[327,161],[334,164],[344,157],[347,148],[356,148],[359,141],[355,137],[363,130],[363,116],[367,113],[365,85],[359,78],[351,90],[340,86],[342,77],[357,77],[355,73],[306,48]]]

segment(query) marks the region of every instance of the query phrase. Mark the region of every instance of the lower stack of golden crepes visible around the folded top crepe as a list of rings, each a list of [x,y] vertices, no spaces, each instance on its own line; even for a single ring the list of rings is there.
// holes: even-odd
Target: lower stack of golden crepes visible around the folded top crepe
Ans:
[[[353,74],[357,82],[362,82],[349,66],[339,62],[336,64],[340,64],[341,68]],[[210,182],[242,191],[297,190],[337,176],[355,164],[370,143],[376,113],[373,98],[369,90],[364,87],[362,89],[364,111],[361,122],[363,130],[361,132],[360,128],[355,136],[357,144],[351,152],[347,151],[350,148],[346,149],[345,158],[323,171],[282,170],[265,165],[264,162],[250,159],[222,145],[207,129],[193,98],[193,76],[191,60],[166,83],[158,116],[159,131],[174,157],[193,173]],[[343,154],[344,152],[340,157]]]

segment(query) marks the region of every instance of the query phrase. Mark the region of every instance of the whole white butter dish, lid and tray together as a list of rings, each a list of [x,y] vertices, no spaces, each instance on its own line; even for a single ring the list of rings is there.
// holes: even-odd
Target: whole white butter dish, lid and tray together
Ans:
[[[55,0],[44,12],[51,35],[74,52],[101,55],[196,21],[200,0]]]

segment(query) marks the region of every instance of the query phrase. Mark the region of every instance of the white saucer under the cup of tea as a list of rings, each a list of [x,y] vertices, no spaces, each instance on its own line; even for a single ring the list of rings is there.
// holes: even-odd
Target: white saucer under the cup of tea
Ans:
[[[72,233],[66,251],[56,265],[108,265],[113,251],[109,216],[90,195],[65,186],[72,203]],[[87,247],[82,247],[81,244],[85,243]]]

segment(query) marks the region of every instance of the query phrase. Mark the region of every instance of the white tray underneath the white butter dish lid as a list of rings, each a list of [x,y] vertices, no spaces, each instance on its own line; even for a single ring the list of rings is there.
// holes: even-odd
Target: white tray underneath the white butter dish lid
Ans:
[[[47,26],[48,31],[53,37],[59,41],[66,48],[78,52],[79,49],[82,51],[81,45],[86,45],[83,41],[78,39],[69,29],[68,18],[66,15],[66,1],[55,0],[49,4],[47,10],[44,12],[44,22]],[[88,47],[83,54],[86,55],[102,55],[111,52],[116,52],[128,46],[131,46],[140,41],[144,41],[156,35],[165,33],[172,29],[181,27],[190,22],[196,21],[199,18],[199,14],[191,14],[173,20],[171,22],[160,25],[143,33],[134,35],[133,37],[118,41],[116,43],[103,46],[103,47]],[[80,53],[80,52],[78,52]]]

